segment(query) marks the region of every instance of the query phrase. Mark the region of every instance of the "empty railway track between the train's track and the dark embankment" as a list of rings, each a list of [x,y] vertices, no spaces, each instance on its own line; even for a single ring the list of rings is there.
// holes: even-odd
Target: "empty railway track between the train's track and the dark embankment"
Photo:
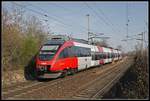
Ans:
[[[105,72],[105,75],[93,80],[87,85],[84,85],[85,87],[83,87],[82,90],[79,90],[80,92],[78,91],[77,94],[73,96],[73,99],[97,99],[97,98],[100,99],[102,98],[103,94],[106,93],[113,86],[113,84],[115,84],[124,74],[124,72],[128,69],[128,68],[124,68],[124,65],[128,65],[127,67],[129,67],[130,64],[126,62],[122,65],[123,66],[121,68],[118,68],[119,66],[116,66],[113,69],[111,68],[111,71]],[[116,73],[118,73],[117,76],[116,76]],[[103,82],[106,80],[108,82]],[[99,85],[103,85],[103,86],[99,87]]]

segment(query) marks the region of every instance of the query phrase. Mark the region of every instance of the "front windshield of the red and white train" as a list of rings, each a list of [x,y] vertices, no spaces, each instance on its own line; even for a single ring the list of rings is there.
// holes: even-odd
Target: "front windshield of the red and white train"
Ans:
[[[57,52],[60,45],[44,45],[39,54],[40,60],[51,60]]]

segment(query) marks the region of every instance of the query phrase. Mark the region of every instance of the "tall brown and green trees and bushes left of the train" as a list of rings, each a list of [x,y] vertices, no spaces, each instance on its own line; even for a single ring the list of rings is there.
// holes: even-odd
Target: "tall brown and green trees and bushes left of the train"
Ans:
[[[25,11],[2,8],[2,70],[23,68],[46,40],[39,19]]]

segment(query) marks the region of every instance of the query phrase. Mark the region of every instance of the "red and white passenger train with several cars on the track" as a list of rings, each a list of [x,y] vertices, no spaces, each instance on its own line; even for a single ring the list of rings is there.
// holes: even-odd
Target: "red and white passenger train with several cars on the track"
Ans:
[[[38,78],[57,78],[122,59],[121,51],[74,40],[50,40],[36,57]]]

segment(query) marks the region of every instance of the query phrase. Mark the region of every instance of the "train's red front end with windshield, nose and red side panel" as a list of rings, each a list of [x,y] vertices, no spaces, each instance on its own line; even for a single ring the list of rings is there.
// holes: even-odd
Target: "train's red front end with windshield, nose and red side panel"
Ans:
[[[76,65],[76,58],[61,58],[60,53],[69,45],[72,45],[72,43],[62,45],[46,44],[42,46],[36,58],[37,78],[57,78],[64,72],[64,67],[66,69],[76,67],[74,66]],[[72,59],[74,59],[74,63],[72,63]]]

